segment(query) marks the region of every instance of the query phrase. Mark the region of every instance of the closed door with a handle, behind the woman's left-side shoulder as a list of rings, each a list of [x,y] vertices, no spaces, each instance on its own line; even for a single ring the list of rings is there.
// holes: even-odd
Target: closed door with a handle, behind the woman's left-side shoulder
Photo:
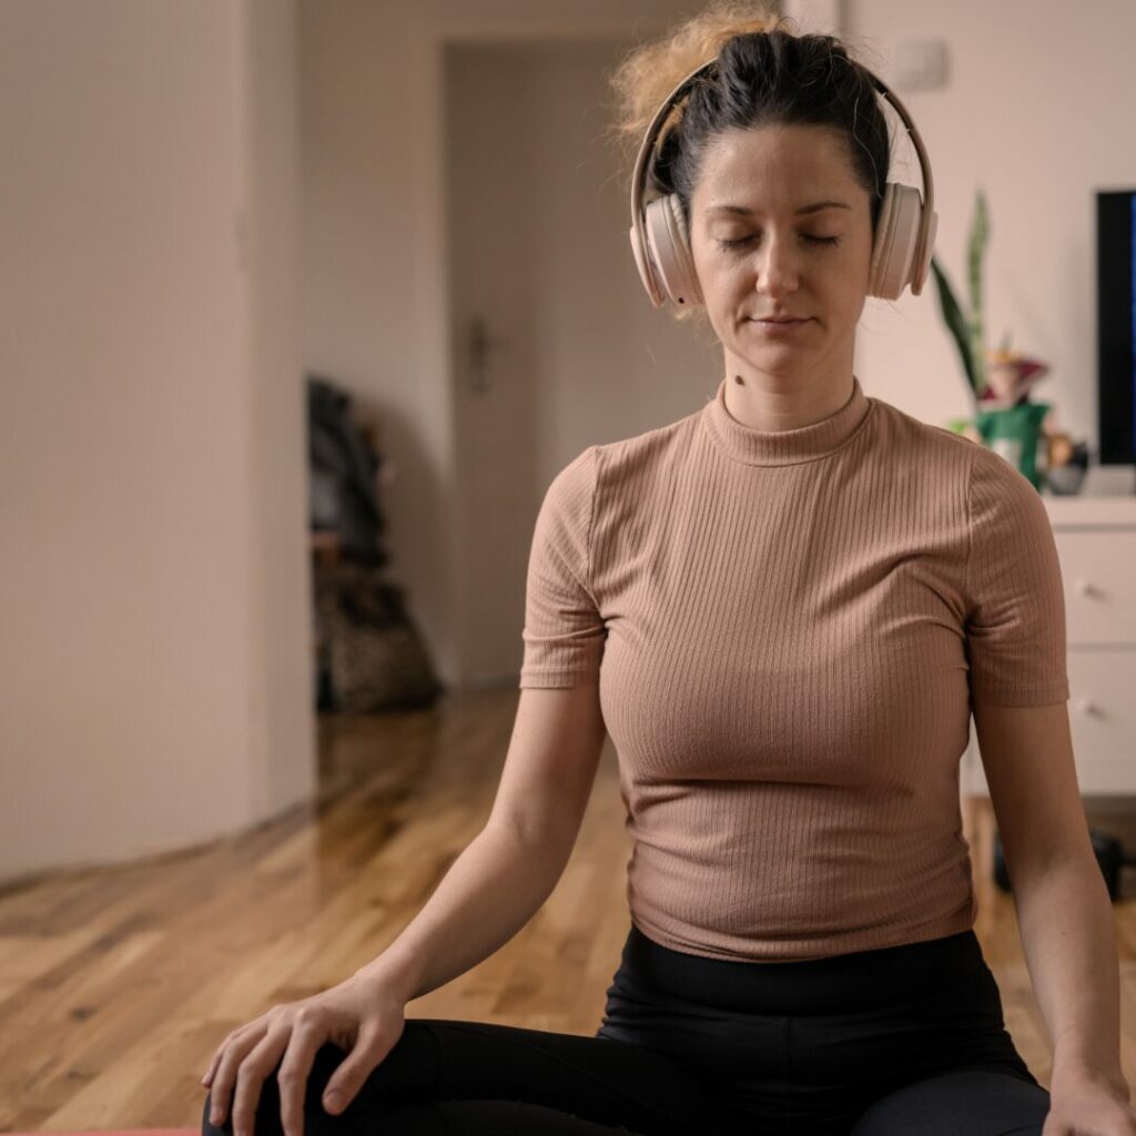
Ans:
[[[629,41],[451,42],[443,55],[460,673],[521,661],[533,525],[593,443],[698,410],[720,348],[652,308],[608,140]],[[627,170],[629,174],[629,169]]]

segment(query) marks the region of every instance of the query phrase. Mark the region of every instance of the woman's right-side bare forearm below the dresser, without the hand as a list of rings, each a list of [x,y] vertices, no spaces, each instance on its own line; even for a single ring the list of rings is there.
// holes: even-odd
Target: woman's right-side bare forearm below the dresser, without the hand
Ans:
[[[1120,982],[1112,905],[1092,858],[1047,867],[1014,902],[1034,994],[1053,1043],[1054,1083],[1120,1068]]]

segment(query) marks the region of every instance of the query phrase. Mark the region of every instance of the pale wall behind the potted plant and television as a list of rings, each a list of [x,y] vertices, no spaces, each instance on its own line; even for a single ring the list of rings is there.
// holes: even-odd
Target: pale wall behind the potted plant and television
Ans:
[[[897,87],[919,127],[935,177],[936,258],[966,296],[966,245],[975,193],[985,190],[987,341],[1013,346],[1052,370],[1034,389],[1061,428],[1097,441],[1096,190],[1136,186],[1136,5],[1099,0],[1075,12],[1059,0],[996,6],[844,0],[842,28],[855,53],[892,83],[895,43],[942,37],[949,81]],[[862,50],[860,50],[862,49]],[[888,108],[889,122],[902,131]],[[921,185],[900,133],[893,179]],[[936,424],[970,410],[934,279],[921,296],[869,299],[857,339],[864,387]],[[1085,492],[1131,492],[1133,469],[1094,469]]]

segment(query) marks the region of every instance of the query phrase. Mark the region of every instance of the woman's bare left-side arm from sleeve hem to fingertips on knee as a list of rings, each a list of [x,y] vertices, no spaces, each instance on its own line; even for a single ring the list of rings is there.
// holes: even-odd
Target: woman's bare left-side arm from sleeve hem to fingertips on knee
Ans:
[[[521,691],[512,740],[485,827],[428,902],[377,959],[337,986],[273,1006],[234,1029],[201,1083],[210,1122],[229,1113],[235,1136],[254,1136],[260,1088],[279,1067],[281,1121],[303,1136],[315,1054],[329,1038],[349,1055],[325,1088],[340,1112],[398,1042],[403,1005],[458,977],[508,942],[548,899],[571,854],[604,737],[594,683]],[[333,1105],[332,1094],[340,1097]]]

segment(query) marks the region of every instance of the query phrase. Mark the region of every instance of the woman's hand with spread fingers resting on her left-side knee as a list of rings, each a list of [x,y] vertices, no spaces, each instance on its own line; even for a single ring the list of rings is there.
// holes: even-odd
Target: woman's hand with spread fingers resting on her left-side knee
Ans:
[[[404,1006],[406,1000],[391,985],[356,974],[300,1002],[273,1006],[234,1029],[201,1078],[202,1085],[211,1086],[209,1122],[224,1122],[235,1084],[233,1130],[235,1136],[253,1136],[260,1088],[279,1064],[281,1122],[286,1136],[303,1136],[304,1088],[320,1046],[333,1042],[349,1051],[324,1092],[324,1108],[336,1114],[402,1036]]]

